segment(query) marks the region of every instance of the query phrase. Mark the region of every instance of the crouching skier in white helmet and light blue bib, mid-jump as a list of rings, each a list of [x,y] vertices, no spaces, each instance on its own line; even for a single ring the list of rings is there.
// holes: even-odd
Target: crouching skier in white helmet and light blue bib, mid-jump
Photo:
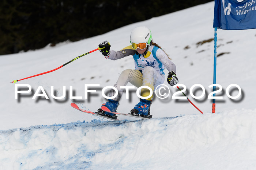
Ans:
[[[114,119],[116,119],[117,116],[111,112],[116,112],[121,96],[125,90],[124,88],[120,88],[120,86],[126,86],[127,83],[130,82],[136,87],[148,86],[154,91],[155,88],[163,84],[165,80],[165,73],[163,72],[165,68],[169,71],[167,82],[171,86],[178,83],[175,64],[169,59],[167,53],[163,51],[161,47],[153,43],[150,29],[147,27],[134,28],[131,32],[130,42],[131,46],[125,47],[121,51],[110,51],[108,41],[103,41],[99,44],[99,51],[105,58],[116,60],[132,55],[135,62],[135,70],[124,70],[114,85],[118,90],[118,95],[113,99],[109,99],[108,102],[102,104],[101,108],[98,109],[100,114]],[[115,91],[112,89],[109,96],[114,95]],[[141,96],[146,97],[149,95],[150,91],[147,88],[142,88]],[[140,99],[140,102],[131,110],[131,114],[151,118],[150,106],[152,98],[153,95],[149,96],[147,99]]]

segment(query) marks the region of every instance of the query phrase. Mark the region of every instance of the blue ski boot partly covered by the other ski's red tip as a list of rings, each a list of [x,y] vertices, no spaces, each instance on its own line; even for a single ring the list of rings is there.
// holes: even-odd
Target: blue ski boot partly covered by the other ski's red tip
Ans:
[[[113,114],[112,112],[116,112],[116,109],[117,109],[118,106],[119,106],[118,101],[114,101],[114,100],[109,99],[108,102],[103,103],[101,105],[101,108],[98,109],[98,113],[101,114],[101,115],[104,115],[104,116],[108,116],[109,118],[116,119],[117,118],[116,114]],[[104,110],[109,110],[110,112],[103,111],[102,107],[105,107]]]

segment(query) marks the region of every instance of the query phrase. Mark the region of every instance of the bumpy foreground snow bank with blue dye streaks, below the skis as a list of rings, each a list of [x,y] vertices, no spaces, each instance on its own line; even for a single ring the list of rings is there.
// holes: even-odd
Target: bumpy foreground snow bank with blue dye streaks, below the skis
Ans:
[[[233,110],[2,130],[0,169],[253,169],[255,129],[256,110]]]

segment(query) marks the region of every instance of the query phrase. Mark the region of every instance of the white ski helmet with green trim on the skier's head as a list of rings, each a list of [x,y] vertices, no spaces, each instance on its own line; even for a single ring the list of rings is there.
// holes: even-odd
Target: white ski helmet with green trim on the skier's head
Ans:
[[[144,26],[134,28],[131,32],[130,42],[147,43],[148,48],[150,48],[152,45],[152,34],[150,29]]]

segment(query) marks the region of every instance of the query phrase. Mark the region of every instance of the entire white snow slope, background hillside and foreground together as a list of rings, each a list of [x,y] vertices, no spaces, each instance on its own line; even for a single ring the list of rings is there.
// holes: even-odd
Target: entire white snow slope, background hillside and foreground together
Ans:
[[[217,83],[223,87],[219,93],[223,99],[216,100],[217,114],[210,114],[213,9],[214,2],[210,2],[78,42],[0,56],[0,169],[253,169],[256,31],[218,30],[217,54],[223,55],[217,58]],[[109,122],[75,110],[70,103],[97,110],[106,101],[101,88],[113,86],[123,70],[134,68],[132,57],[112,61],[98,51],[52,73],[17,82],[29,84],[33,92],[15,99],[15,84],[10,83],[14,79],[57,68],[94,50],[103,40],[110,42],[112,50],[120,50],[129,45],[131,30],[140,25],[150,28],[154,42],[170,55],[179,83],[187,87],[185,94],[204,114],[187,99],[171,96],[154,98],[153,119],[146,121],[119,116],[125,123]],[[90,99],[84,99],[84,84],[100,87]],[[189,94],[193,84],[206,89],[202,99]],[[238,99],[227,97],[230,84],[241,87]],[[39,86],[49,99],[32,99]],[[54,100],[51,86],[58,96],[66,86],[66,98]],[[70,91],[82,99],[69,99]],[[177,90],[170,87],[170,91],[172,95]],[[202,90],[193,92],[202,94]],[[236,96],[238,90],[234,88],[230,94]],[[128,112],[138,103],[134,92],[130,97],[121,99],[119,112]]]

